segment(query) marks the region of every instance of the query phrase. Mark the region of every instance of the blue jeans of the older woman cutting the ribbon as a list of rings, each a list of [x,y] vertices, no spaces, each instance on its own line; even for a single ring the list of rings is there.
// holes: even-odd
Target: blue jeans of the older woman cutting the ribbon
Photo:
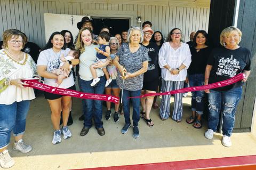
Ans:
[[[131,123],[130,119],[130,99],[129,97],[139,96],[141,94],[141,90],[137,91],[123,91],[123,109],[124,109],[124,120],[125,123]],[[140,98],[132,98],[132,120],[133,126],[138,126],[138,122],[140,120]]]

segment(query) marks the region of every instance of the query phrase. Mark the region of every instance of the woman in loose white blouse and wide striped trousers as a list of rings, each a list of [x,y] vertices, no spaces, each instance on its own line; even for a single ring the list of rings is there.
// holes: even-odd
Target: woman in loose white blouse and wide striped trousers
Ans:
[[[174,28],[170,31],[168,42],[159,51],[158,63],[163,79],[162,91],[168,92],[183,88],[187,69],[191,62],[189,46],[181,42],[181,30]],[[170,115],[170,95],[163,95],[160,105],[160,117],[166,120]],[[182,118],[182,93],[174,94],[174,109],[172,119],[177,123]]]

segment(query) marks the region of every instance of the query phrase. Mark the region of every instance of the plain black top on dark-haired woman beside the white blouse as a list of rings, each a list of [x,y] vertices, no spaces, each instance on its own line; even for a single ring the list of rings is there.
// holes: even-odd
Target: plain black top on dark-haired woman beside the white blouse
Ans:
[[[207,60],[212,52],[212,47],[200,49],[198,52],[195,47],[189,47],[191,52],[191,63],[188,68],[188,74],[204,74]]]

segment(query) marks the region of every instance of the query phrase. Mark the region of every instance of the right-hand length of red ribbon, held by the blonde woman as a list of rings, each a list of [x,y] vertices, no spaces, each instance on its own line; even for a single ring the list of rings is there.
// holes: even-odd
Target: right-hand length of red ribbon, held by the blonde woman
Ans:
[[[135,96],[135,97],[130,97],[130,98],[144,98],[145,96],[155,96],[155,95],[170,95],[170,94],[176,94],[176,93],[186,93],[186,92],[192,92],[192,91],[201,91],[201,90],[208,90],[212,88],[218,88],[218,87],[223,87],[223,86],[228,86],[230,84],[234,84],[244,78],[244,74],[238,74],[232,78],[223,80],[221,82],[216,82],[208,85],[203,85],[203,86],[195,86],[195,87],[186,87],[186,88],[181,88],[179,90],[173,90],[170,92],[164,92],[164,93],[148,93],[140,96]]]

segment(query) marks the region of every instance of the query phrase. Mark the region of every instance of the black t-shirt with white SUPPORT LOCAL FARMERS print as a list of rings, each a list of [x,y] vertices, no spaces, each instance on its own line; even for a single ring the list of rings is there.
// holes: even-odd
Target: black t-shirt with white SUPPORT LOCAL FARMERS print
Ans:
[[[207,64],[212,66],[209,84],[229,79],[243,72],[251,70],[251,52],[245,47],[236,50],[228,50],[225,47],[215,48]],[[228,91],[242,86],[244,82],[237,82],[228,86],[214,88],[217,91]]]

